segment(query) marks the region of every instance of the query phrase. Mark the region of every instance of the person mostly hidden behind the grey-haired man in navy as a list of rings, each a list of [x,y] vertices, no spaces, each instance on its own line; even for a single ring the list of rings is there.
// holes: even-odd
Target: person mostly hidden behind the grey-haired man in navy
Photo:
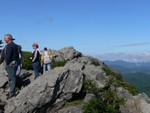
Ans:
[[[19,53],[19,65],[18,65],[18,69],[17,69],[16,75],[20,76],[20,74],[21,74],[21,68],[22,68],[23,60],[24,60],[24,56],[23,56],[21,45],[18,45],[18,53]]]

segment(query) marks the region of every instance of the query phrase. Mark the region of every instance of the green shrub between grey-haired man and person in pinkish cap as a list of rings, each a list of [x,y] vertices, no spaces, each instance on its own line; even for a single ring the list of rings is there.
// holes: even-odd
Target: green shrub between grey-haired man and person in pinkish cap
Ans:
[[[22,68],[26,70],[32,70],[33,69],[32,61],[30,60],[30,57],[32,57],[32,53],[27,51],[24,51],[23,53],[24,53],[24,62]]]

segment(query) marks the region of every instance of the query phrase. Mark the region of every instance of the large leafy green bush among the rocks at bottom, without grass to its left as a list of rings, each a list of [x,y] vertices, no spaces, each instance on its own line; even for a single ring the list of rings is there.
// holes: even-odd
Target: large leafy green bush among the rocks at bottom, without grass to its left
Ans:
[[[91,100],[83,103],[84,113],[116,113],[119,110],[120,105],[124,104],[125,101],[118,97],[109,83],[105,88],[100,89],[96,83],[84,81],[83,86],[86,93],[95,95]]]

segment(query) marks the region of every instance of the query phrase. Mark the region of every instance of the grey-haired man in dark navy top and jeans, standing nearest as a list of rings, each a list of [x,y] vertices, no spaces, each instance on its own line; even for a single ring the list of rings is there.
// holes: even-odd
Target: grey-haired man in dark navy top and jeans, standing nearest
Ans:
[[[16,45],[13,42],[13,37],[11,34],[6,34],[4,36],[4,40],[6,42],[6,46],[2,53],[2,59],[6,63],[6,71],[8,73],[8,79],[9,79],[9,87],[10,91],[8,94],[7,99],[10,99],[15,94],[15,88],[16,88],[16,72],[19,62],[19,53],[18,53],[18,45]]]

